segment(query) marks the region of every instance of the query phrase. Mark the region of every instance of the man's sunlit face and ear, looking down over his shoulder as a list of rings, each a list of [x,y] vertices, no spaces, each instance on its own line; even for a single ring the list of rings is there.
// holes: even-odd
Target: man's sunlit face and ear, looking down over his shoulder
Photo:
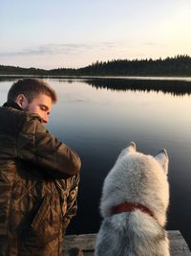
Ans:
[[[32,100],[31,103],[29,103],[24,96],[21,107],[26,111],[38,114],[42,118],[44,123],[48,123],[52,105],[53,102],[51,97],[47,96],[46,94],[40,93]]]

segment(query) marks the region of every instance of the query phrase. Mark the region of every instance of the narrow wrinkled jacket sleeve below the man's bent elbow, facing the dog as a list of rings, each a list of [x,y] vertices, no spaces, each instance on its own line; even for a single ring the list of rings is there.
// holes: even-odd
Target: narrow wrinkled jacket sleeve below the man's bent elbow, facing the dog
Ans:
[[[74,216],[76,215],[76,211],[77,211],[77,192],[78,192],[78,184],[79,184],[79,175],[75,175],[74,177],[72,177],[73,182],[72,182],[72,187],[71,190],[69,192],[69,196],[67,198],[67,210],[66,210],[66,214],[63,217],[62,220],[62,230],[63,233],[65,233],[70,221],[74,218]]]

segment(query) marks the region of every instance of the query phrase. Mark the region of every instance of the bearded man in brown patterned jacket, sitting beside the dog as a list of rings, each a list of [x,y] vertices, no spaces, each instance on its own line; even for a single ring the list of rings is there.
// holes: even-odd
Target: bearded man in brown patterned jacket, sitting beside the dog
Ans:
[[[0,107],[0,256],[60,256],[76,213],[80,159],[45,128],[53,88],[12,84]]]

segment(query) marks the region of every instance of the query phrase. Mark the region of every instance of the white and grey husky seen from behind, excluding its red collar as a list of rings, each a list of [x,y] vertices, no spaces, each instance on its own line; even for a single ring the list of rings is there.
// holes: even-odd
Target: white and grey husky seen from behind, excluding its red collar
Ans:
[[[165,150],[153,157],[138,152],[132,142],[121,151],[103,185],[96,256],[170,255],[164,229],[169,203],[167,173]],[[123,202],[141,203],[153,217],[139,209],[113,214],[113,207]]]

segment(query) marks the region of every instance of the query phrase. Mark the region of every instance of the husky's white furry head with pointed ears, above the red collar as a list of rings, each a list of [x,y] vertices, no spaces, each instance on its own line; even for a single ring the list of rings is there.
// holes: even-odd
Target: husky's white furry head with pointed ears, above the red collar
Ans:
[[[104,181],[100,205],[102,216],[111,215],[112,207],[124,201],[142,203],[163,225],[169,202],[167,174],[166,150],[159,151],[156,156],[143,154],[131,142],[120,152]]]

